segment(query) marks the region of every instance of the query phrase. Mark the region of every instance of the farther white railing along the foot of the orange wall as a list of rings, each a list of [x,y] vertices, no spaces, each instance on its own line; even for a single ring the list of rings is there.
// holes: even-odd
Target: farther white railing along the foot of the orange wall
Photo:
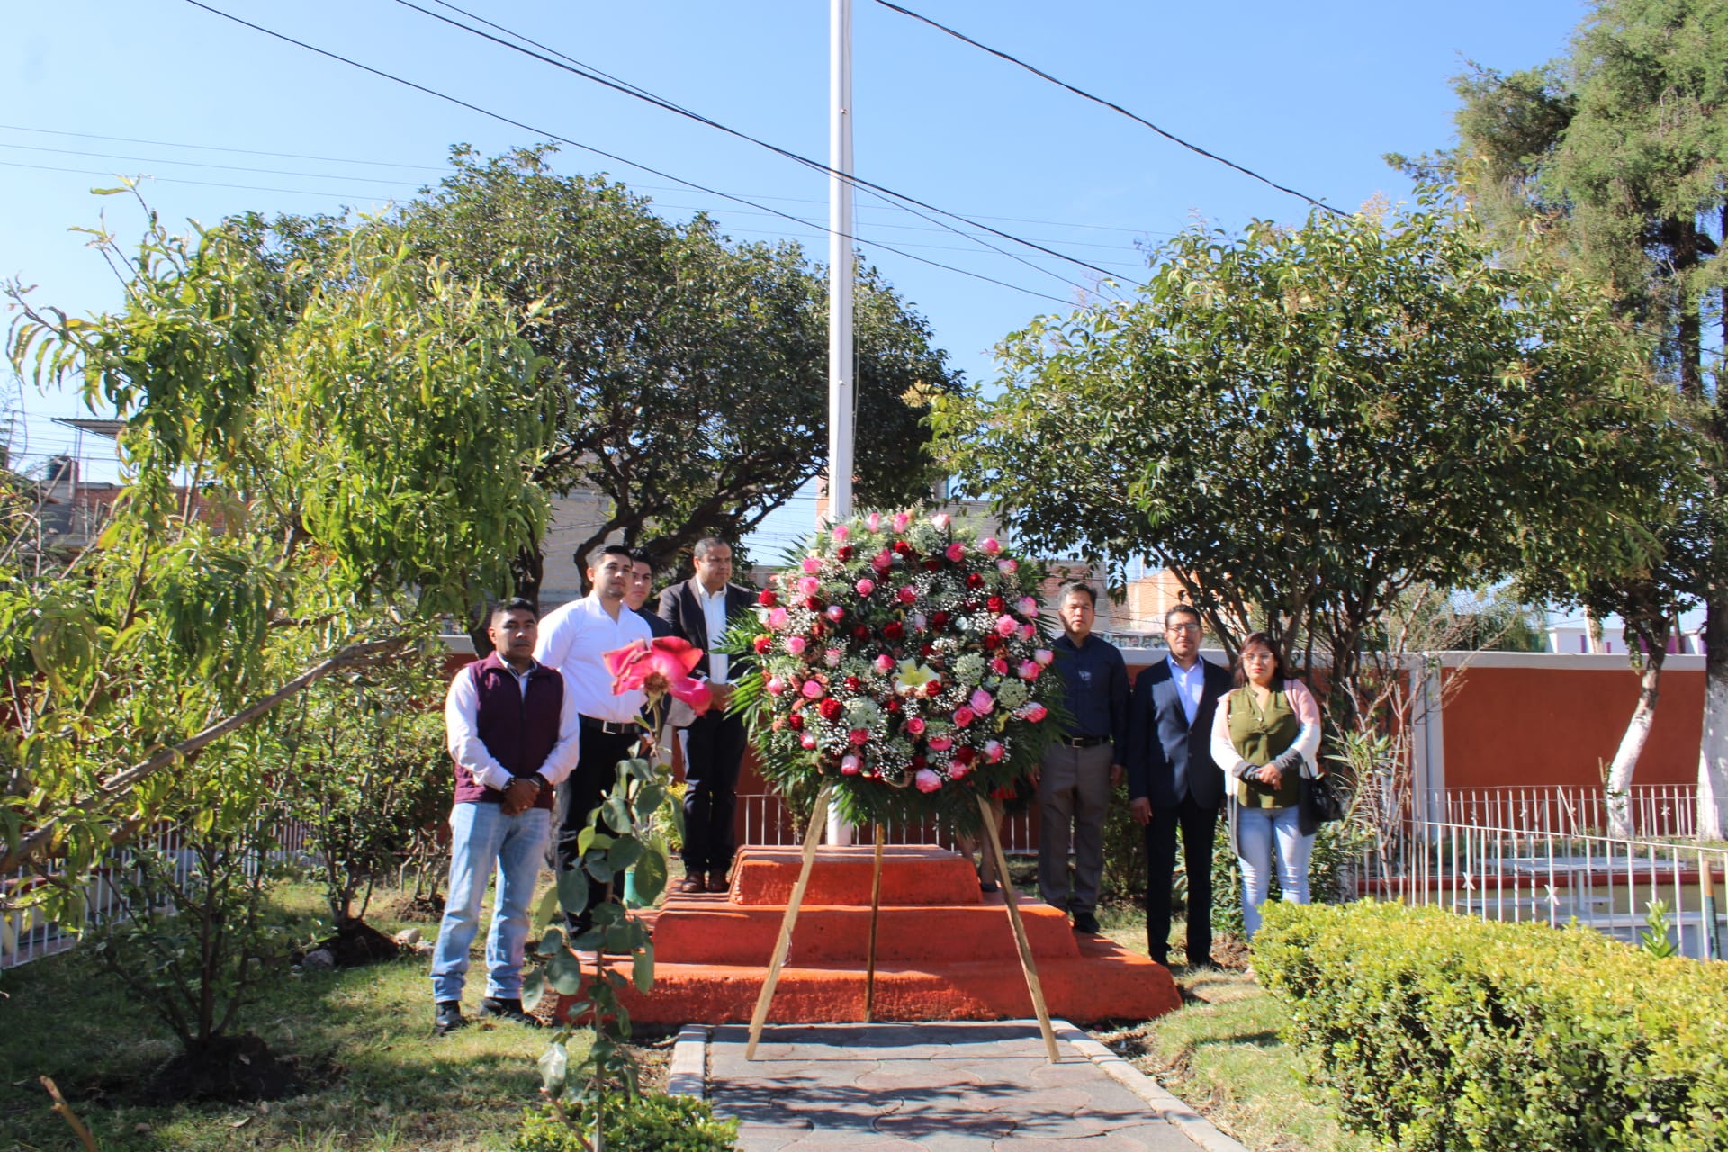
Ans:
[[[1610,827],[1610,798],[1600,784],[1528,788],[1448,788],[1431,815],[1448,824],[1507,827],[1533,832],[1590,834]],[[1693,784],[1633,784],[1619,798],[1633,836],[1692,836],[1697,810]]]

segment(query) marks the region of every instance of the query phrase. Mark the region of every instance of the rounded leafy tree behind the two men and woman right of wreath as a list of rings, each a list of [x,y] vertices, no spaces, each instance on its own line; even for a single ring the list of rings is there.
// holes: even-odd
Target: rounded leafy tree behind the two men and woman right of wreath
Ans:
[[[1433,195],[1192,228],[1139,299],[1009,337],[1002,396],[938,409],[949,459],[1026,548],[1147,556],[1227,642],[1320,646],[1334,717],[1372,724],[1358,668],[1388,606],[1567,567],[1581,535],[1643,556],[1623,513],[1674,454],[1604,302],[1484,257]]]

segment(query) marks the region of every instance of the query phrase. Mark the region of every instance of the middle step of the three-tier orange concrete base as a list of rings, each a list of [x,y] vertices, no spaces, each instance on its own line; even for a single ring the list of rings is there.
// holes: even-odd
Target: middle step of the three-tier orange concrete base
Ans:
[[[976,883],[973,884],[976,888]],[[1014,931],[1002,895],[988,903],[952,907],[883,907],[876,922],[876,962],[1018,964]],[[657,964],[767,965],[779,940],[783,907],[746,907],[703,896],[670,896],[655,926]],[[791,936],[788,964],[852,964],[869,955],[869,908],[805,903]],[[1078,959],[1068,917],[1037,900],[1020,902],[1032,953]]]

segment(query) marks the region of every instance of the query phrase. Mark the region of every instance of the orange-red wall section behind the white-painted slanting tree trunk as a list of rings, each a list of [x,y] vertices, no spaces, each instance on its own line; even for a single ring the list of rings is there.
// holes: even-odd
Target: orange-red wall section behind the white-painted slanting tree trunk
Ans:
[[[1446,682],[1446,788],[1600,784],[1638,703],[1631,668],[1471,667]],[[1668,668],[1633,782],[1697,781],[1702,729],[1704,672]]]

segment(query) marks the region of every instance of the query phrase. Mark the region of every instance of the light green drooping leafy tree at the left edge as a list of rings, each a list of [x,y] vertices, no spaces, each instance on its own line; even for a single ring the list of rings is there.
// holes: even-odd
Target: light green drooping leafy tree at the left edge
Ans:
[[[100,542],[64,573],[0,572],[0,872],[36,869],[52,915],[140,829],[218,801],[240,819],[270,793],[251,725],[503,587],[544,525],[541,361],[446,266],[370,228],[316,283],[225,228],[97,244],[118,313],[12,285],[19,371],[126,425]]]

